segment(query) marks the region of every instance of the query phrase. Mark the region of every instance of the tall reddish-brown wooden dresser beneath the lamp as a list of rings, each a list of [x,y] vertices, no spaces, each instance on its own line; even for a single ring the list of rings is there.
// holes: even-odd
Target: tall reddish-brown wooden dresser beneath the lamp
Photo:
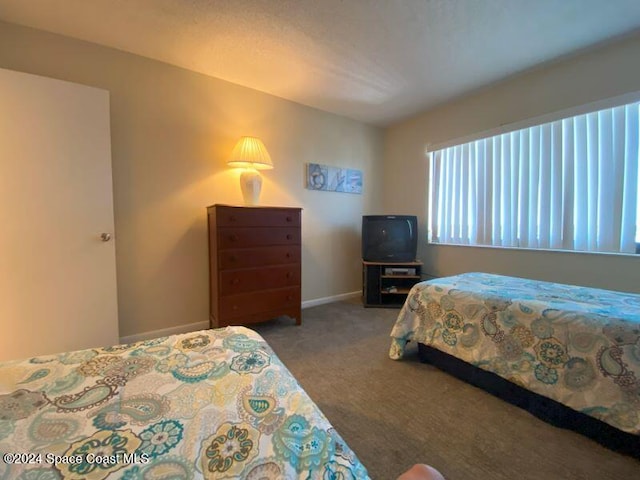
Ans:
[[[211,327],[288,315],[302,322],[301,209],[207,208]]]

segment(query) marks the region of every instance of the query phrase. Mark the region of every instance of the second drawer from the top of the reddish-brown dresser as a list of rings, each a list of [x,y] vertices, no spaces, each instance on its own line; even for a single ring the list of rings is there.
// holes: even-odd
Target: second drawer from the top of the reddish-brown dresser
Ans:
[[[218,229],[218,248],[220,249],[267,245],[300,245],[300,229],[297,227]]]

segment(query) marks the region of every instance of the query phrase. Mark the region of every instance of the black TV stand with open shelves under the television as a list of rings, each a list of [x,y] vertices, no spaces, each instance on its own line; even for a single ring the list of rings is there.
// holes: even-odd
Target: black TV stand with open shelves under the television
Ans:
[[[365,307],[400,308],[411,287],[421,280],[422,262],[362,261],[362,303]]]

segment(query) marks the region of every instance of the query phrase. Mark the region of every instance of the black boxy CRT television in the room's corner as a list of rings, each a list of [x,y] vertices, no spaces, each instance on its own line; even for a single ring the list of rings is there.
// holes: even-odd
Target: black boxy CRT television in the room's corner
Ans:
[[[413,262],[418,248],[415,215],[363,215],[362,259],[366,262]]]

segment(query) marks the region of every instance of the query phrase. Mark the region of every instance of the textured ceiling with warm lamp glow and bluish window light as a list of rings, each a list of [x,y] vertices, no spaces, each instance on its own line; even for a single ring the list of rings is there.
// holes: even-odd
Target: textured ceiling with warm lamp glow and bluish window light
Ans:
[[[0,0],[0,19],[377,125],[640,28],[640,0]]]

